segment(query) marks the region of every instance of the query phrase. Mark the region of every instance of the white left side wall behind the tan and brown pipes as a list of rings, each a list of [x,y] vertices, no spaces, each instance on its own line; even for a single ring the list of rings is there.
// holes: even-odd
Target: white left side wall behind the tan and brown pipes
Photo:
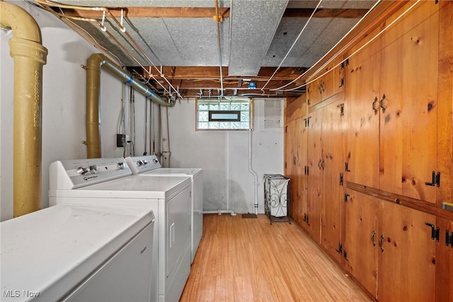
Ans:
[[[86,158],[85,87],[81,65],[99,50],[62,21],[23,1],[7,1],[23,7],[38,22],[47,48],[42,84],[42,208],[48,206],[49,165],[55,160]],[[11,30],[0,32],[0,219],[13,217],[13,58],[9,55]],[[129,89],[127,87],[127,101]],[[122,108],[122,83],[101,72],[101,140],[103,157],[122,157],[116,133]],[[144,101],[135,93],[137,116],[135,150],[144,150]],[[150,108],[150,106],[148,106]],[[149,135],[149,131],[148,131]],[[149,140],[148,140],[149,141]],[[149,149],[148,149],[149,150]],[[149,151],[148,151],[149,152]],[[128,153],[127,153],[128,155]],[[126,156],[127,156],[126,155]],[[23,184],[26,186],[26,184]]]

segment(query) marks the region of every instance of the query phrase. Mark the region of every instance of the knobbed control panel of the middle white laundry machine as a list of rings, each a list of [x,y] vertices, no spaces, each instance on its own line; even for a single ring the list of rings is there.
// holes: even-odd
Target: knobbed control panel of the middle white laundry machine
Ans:
[[[122,157],[59,160],[50,164],[50,189],[76,189],[131,175]]]

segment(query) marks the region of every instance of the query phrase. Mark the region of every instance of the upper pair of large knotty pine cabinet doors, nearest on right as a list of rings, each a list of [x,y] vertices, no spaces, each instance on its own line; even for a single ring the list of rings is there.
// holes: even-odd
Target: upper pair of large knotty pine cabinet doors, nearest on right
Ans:
[[[350,58],[345,80],[352,103],[348,181],[430,203],[441,160],[437,10],[426,1],[408,13]]]

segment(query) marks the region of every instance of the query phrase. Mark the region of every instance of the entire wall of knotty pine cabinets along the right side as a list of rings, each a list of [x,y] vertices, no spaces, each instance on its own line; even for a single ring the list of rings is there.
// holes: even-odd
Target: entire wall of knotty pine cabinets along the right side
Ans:
[[[453,302],[453,214],[441,208],[453,195],[453,2],[420,1],[393,23],[413,4],[345,50],[343,87],[327,69],[307,86],[296,211],[379,301]]]

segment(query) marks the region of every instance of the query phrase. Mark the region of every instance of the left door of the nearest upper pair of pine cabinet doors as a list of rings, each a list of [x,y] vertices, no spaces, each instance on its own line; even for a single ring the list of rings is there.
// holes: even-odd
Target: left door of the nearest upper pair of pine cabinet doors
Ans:
[[[350,171],[345,177],[374,188],[379,188],[379,51],[377,39],[350,57],[345,72],[345,161]]]

